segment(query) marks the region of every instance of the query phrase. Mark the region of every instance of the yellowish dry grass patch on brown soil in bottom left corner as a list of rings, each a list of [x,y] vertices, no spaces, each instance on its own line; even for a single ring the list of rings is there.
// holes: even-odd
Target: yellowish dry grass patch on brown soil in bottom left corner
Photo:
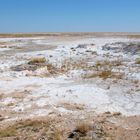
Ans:
[[[19,136],[23,139],[26,137],[27,140],[36,140],[43,137],[62,140],[63,130],[54,127],[51,119],[19,121],[11,126],[0,129],[0,138]]]

